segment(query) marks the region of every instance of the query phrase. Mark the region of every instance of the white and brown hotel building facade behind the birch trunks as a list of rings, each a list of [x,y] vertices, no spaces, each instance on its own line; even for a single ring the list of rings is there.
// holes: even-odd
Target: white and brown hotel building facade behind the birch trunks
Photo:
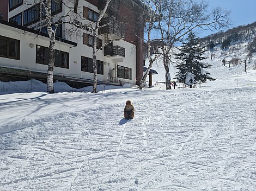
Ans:
[[[9,0],[9,22],[0,20],[1,73],[7,78],[44,80],[50,44],[45,12],[40,3],[29,1]],[[144,28],[142,26],[136,32],[138,16],[131,18],[129,13],[126,16],[121,11],[129,9],[133,14],[143,9],[142,3],[137,0],[131,5],[131,0],[127,0],[128,4],[121,4],[120,0],[113,2],[101,22],[102,25],[111,24],[102,28],[97,36],[97,80],[99,84],[138,84],[143,75],[143,43],[135,39],[139,35],[138,39],[143,39]],[[100,4],[101,1],[83,0],[75,10],[74,3],[69,0],[52,1],[53,22],[59,23],[56,30],[55,80],[92,83],[93,28],[101,11]],[[134,6],[137,6],[136,10]],[[135,31],[134,34],[131,31]],[[100,48],[102,44],[106,46]]]

